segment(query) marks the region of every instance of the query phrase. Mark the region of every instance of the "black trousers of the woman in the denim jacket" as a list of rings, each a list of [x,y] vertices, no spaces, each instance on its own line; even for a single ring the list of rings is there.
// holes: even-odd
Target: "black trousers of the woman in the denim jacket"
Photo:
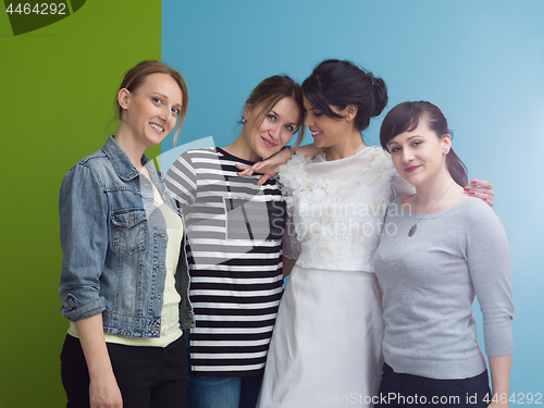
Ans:
[[[187,393],[187,356],[183,336],[168,347],[107,343],[124,408],[183,408]],[[61,378],[69,408],[89,407],[89,372],[79,339],[66,335]]]

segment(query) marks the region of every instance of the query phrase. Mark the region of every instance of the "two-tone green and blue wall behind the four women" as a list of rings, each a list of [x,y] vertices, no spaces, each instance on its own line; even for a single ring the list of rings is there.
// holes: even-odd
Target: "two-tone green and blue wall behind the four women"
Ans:
[[[325,58],[381,75],[390,106],[429,99],[470,175],[495,185],[516,301],[511,393],[544,386],[544,3],[537,0],[87,1],[14,37],[0,13],[0,407],[60,407],[58,193],[67,170],[115,128],[124,71],[143,59],[181,69],[189,110],[180,144],[237,135],[255,85],[298,81]],[[161,42],[162,35],[162,42]],[[161,53],[162,52],[162,53]],[[378,143],[381,119],[366,133]],[[208,145],[210,139],[202,144]],[[162,151],[172,148],[172,139]],[[148,151],[159,153],[159,148]],[[484,256],[484,255],[482,255]]]

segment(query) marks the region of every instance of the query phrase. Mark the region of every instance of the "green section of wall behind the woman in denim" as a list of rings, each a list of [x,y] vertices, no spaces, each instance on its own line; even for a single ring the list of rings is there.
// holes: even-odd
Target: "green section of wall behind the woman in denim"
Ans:
[[[3,5],[0,407],[61,407],[59,354],[67,320],[58,295],[59,188],[70,168],[114,132],[123,73],[140,60],[160,60],[161,2],[87,1],[17,36]]]

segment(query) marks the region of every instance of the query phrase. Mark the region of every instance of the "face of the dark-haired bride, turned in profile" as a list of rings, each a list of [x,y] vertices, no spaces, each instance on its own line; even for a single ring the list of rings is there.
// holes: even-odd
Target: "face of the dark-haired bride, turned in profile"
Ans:
[[[347,112],[350,107],[351,106],[348,106],[346,109],[339,110],[331,106],[330,108],[333,112],[346,116],[343,119],[334,119],[325,115],[318,108],[313,107],[305,97],[305,108],[307,111],[305,126],[308,126],[310,129],[311,136],[313,137],[313,144],[317,147],[326,148],[345,143],[346,135],[348,135],[354,127],[353,122],[346,120],[350,118],[350,113]]]

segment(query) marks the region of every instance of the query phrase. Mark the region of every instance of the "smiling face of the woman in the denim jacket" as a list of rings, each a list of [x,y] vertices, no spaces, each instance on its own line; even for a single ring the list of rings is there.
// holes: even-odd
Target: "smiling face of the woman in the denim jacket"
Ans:
[[[182,89],[168,74],[148,75],[134,91],[119,91],[122,120],[137,146],[160,144],[175,126],[182,111]]]

